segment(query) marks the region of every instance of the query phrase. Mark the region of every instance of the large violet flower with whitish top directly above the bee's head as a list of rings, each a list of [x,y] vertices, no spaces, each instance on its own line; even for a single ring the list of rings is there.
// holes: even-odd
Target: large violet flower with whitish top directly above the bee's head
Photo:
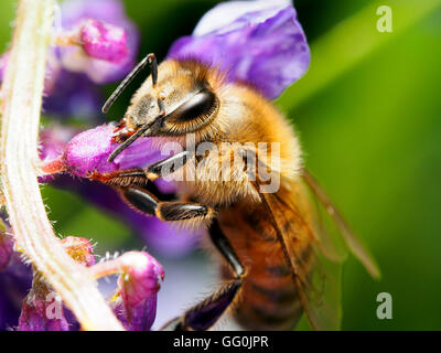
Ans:
[[[208,11],[169,57],[218,66],[272,99],[303,76],[310,50],[290,1],[232,1]]]

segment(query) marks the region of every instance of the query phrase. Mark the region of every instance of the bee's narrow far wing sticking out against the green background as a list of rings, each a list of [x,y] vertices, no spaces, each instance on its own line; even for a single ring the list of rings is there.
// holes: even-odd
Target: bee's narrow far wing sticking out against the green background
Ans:
[[[370,255],[367,247],[363,244],[363,240],[351,229],[349,225],[346,223],[342,214],[332,203],[331,199],[324,192],[324,190],[320,186],[318,181],[312,176],[312,174],[303,169],[302,173],[303,181],[309,186],[314,196],[319,200],[319,202],[323,205],[330,217],[333,220],[335,226],[338,228],[340,234],[342,235],[345,245],[348,247],[352,254],[364,265],[366,270],[374,278],[378,279],[380,277],[380,271],[378,266]],[[322,235],[324,233],[321,233]],[[323,236],[322,239],[327,238],[327,236]],[[338,242],[338,240],[336,240]],[[323,240],[322,244],[331,244],[332,240]],[[334,243],[335,244],[335,243]]]

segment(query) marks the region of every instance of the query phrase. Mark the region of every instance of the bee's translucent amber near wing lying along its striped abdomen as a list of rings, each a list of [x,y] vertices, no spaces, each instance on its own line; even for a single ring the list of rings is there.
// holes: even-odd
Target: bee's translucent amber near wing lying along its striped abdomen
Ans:
[[[300,185],[299,185],[300,186]],[[310,212],[299,204],[306,194],[290,194],[284,200],[278,194],[260,193],[276,229],[304,313],[314,330],[338,330],[341,311],[341,264],[326,259],[313,234]],[[303,210],[301,210],[303,208]],[[284,226],[283,226],[284,225]],[[308,252],[300,249],[306,244]],[[304,256],[305,253],[313,253]]]

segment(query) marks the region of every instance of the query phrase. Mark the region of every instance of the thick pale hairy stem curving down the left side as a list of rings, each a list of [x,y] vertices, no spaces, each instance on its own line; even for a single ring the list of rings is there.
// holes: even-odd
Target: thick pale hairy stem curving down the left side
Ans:
[[[53,0],[20,0],[2,86],[2,191],[18,246],[85,330],[122,330],[84,266],[65,252],[47,220],[36,175],[37,136]]]

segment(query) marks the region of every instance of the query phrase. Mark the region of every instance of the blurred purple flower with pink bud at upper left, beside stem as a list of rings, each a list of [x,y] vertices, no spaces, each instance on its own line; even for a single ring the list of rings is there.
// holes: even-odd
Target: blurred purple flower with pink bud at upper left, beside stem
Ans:
[[[50,53],[44,110],[56,118],[98,120],[98,84],[122,78],[132,67],[139,35],[120,0],[67,0]]]

